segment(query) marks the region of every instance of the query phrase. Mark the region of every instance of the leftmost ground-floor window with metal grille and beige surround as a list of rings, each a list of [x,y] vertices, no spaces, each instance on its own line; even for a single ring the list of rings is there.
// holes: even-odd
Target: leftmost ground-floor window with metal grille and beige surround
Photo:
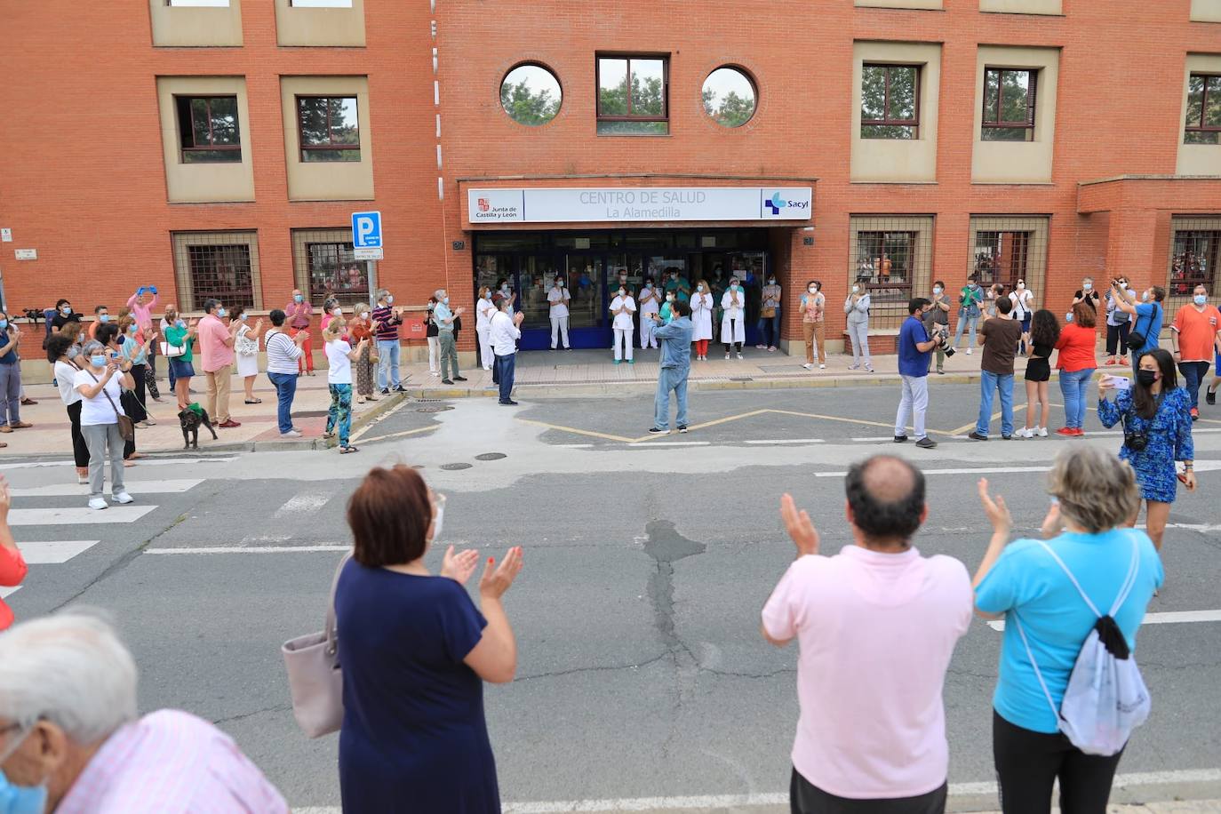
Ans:
[[[172,242],[179,310],[198,311],[208,298],[263,308],[254,232],[177,232]]]

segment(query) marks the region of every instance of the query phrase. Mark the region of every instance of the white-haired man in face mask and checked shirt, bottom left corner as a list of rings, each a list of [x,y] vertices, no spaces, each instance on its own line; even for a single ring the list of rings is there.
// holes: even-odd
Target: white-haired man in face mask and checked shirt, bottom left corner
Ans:
[[[136,663],[79,610],[0,635],[0,812],[286,814],[258,766],[211,724],[137,716]]]

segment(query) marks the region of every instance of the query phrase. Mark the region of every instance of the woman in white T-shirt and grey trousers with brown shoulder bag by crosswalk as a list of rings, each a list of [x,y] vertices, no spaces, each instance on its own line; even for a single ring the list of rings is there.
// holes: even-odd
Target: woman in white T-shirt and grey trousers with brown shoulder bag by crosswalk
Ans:
[[[84,347],[89,364],[77,372],[73,387],[81,393],[81,434],[89,447],[89,508],[105,509],[103,497],[106,461],[110,461],[110,492],[115,503],[132,503],[123,488],[125,439],[118,430],[118,416],[126,415],[122,388],[136,386],[126,362],[111,355],[96,339]]]

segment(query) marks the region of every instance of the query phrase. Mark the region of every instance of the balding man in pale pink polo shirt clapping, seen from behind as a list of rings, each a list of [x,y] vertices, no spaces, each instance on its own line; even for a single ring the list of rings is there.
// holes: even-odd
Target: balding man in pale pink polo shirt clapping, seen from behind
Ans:
[[[790,495],[780,504],[797,560],[763,607],[763,638],[800,646],[791,808],[941,814],[941,690],[971,624],[971,577],[958,560],[912,547],[928,516],[913,465],[877,455],[845,486],[853,544],[835,556],[819,556],[818,532]]]

